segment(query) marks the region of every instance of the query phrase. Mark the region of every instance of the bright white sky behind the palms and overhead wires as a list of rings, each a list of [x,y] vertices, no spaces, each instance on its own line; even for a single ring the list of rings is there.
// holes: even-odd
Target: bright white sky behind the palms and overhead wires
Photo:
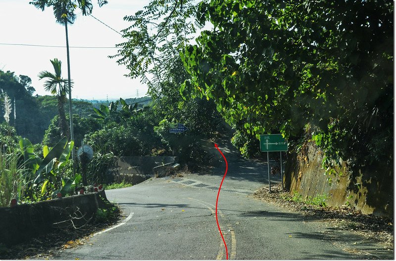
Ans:
[[[116,31],[130,26],[123,21],[125,15],[133,15],[143,9],[148,0],[109,0],[99,7],[92,0],[92,15]],[[29,0],[0,0],[0,43],[39,44],[65,46],[64,26],[57,24],[52,8],[36,9]],[[91,16],[77,16],[75,23],[68,26],[70,46],[110,47],[124,42],[120,35],[110,30]],[[116,59],[107,58],[116,54],[116,48],[80,49],[70,48],[71,79],[74,81],[72,98],[109,99],[145,96],[147,86],[139,79],[124,76],[127,70],[118,66]],[[27,75],[39,95],[44,91],[44,80],[37,75],[43,70],[53,71],[49,60],[62,61],[62,76],[67,78],[66,48],[11,46],[0,44],[0,70]]]

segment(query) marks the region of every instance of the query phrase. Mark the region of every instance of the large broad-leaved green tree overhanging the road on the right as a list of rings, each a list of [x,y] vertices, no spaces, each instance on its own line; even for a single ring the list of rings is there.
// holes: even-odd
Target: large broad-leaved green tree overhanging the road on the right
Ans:
[[[213,29],[182,53],[184,94],[256,135],[310,124],[355,173],[393,161],[392,1],[211,0],[197,19]]]

